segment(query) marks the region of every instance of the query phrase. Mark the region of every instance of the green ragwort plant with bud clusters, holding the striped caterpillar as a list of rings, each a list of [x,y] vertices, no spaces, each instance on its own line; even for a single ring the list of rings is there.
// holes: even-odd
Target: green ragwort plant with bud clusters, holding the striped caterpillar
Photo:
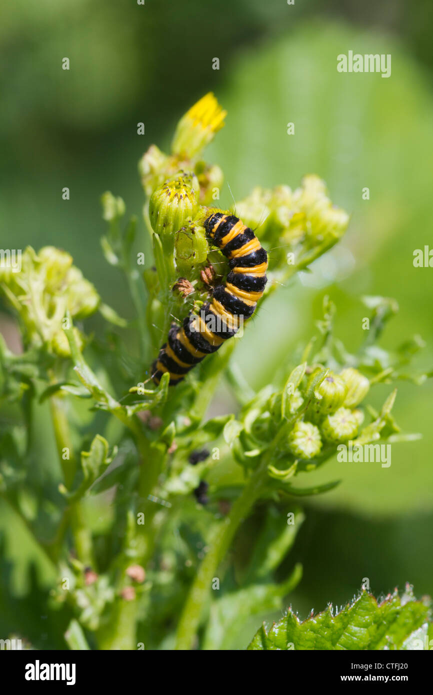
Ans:
[[[297,475],[313,474],[341,444],[411,439],[392,415],[393,384],[427,377],[408,369],[422,343],[378,347],[397,311],[384,297],[364,298],[370,329],[354,354],[334,335],[335,307],[325,297],[316,334],[288,357],[284,378],[280,370],[258,393],[230,361],[238,339],[250,339],[247,325],[245,336],[224,341],[177,386],[169,386],[167,370],[158,385],[152,380],[172,322],[198,315],[227,276],[227,259],[204,229],[218,211],[222,170],[202,158],[225,115],[206,95],[181,118],[170,154],[152,145],[142,156],[145,252],[136,253],[143,242],[136,219],[123,222],[122,199],[102,196],[102,250],[113,273],[126,277],[136,311],[129,324],[63,250],[28,247],[19,272],[7,264],[0,270],[22,336],[20,354],[0,341],[0,490],[56,568],[47,610],[61,616],[72,649],[224,648],[236,625],[284,607],[300,581],[299,564],[284,582],[275,580],[302,523],[299,500],[338,481],[318,485],[312,475],[302,488]],[[254,188],[235,214],[270,252],[260,306],[338,243],[349,222],[313,175],[296,190]],[[86,329],[97,311],[106,322],[102,337]],[[136,332],[137,353],[122,338],[125,329]],[[206,419],[223,378],[238,411]],[[376,411],[368,396],[381,382],[390,391]],[[45,434],[35,418],[47,404],[59,466],[38,475]],[[229,550],[257,502],[265,522],[239,584]],[[104,521],[95,523],[100,509]],[[375,634],[358,644],[348,626],[363,626],[366,605]],[[363,591],[338,617],[332,607],[320,614],[326,639],[289,611],[270,632],[261,628],[250,648],[406,648],[415,630],[427,630],[428,610],[410,589],[405,600],[393,594],[380,604]]]

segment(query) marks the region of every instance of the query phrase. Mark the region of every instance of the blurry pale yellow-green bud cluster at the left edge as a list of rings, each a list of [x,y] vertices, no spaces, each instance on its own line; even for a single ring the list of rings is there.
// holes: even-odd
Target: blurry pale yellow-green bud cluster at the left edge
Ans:
[[[86,318],[100,302],[92,283],[72,265],[72,256],[54,246],[45,246],[38,254],[27,247],[21,270],[0,277],[0,288],[19,315],[28,344],[44,345],[63,357],[70,354],[63,334],[65,314]],[[76,337],[82,345],[81,336]]]

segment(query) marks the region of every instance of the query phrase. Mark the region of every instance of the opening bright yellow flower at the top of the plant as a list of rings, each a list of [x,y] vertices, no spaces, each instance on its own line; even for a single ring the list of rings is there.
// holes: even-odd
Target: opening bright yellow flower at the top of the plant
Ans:
[[[174,133],[172,153],[196,156],[224,126],[226,115],[227,111],[223,111],[212,92],[206,94],[181,117]]]

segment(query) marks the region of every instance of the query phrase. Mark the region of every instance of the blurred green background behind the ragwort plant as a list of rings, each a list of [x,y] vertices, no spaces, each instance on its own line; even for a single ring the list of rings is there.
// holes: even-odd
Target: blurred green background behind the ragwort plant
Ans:
[[[263,386],[277,365],[289,362],[311,336],[325,293],[337,304],[337,333],[350,350],[362,338],[361,295],[395,297],[400,313],[383,344],[420,334],[427,347],[417,366],[432,366],[433,270],[412,263],[415,249],[433,246],[432,30],[428,0],[334,0],[326,8],[318,0],[294,6],[284,0],[147,0],[145,6],[15,0],[3,6],[2,247],[65,248],[104,300],[124,313],[126,287],[100,252],[99,197],[112,190],[140,216],[138,158],[152,142],[168,149],[180,115],[213,90],[229,115],[206,158],[222,167],[236,199],[254,185],[295,188],[303,174],[315,172],[352,215],[338,249],[313,275],[281,288],[240,341],[236,360],[247,379]],[[391,54],[391,77],[338,73],[336,56],[350,49]],[[63,57],[70,58],[68,72]],[[214,57],[220,70],[212,69]],[[138,122],[145,123],[145,136],[137,135]],[[286,134],[288,122],[295,123],[294,136]],[[68,202],[61,197],[65,186]],[[361,197],[366,186],[369,200]],[[221,205],[229,204],[224,185]],[[1,325],[7,333],[4,316]],[[377,387],[373,402],[388,391]],[[307,505],[291,554],[304,563],[291,597],[301,614],[343,603],[366,577],[376,594],[406,581],[418,595],[433,594],[432,396],[431,383],[400,386],[395,417],[423,439],[393,445],[390,468],[335,462],[317,475],[343,482]],[[229,408],[222,390],[214,409]],[[0,524],[16,598],[25,597],[29,562],[38,567],[33,583],[43,587],[49,577],[3,507]],[[34,603],[20,601],[25,619],[38,614]],[[2,608],[3,635],[13,629],[15,608]]]

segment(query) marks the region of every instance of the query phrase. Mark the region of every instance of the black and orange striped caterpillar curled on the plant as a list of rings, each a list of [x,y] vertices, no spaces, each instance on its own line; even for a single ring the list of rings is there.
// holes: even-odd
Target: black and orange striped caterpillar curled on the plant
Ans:
[[[181,327],[172,325],[168,341],[152,365],[156,384],[165,372],[170,374],[170,386],[179,384],[206,355],[216,352],[252,316],[265,289],[268,254],[250,227],[235,215],[213,213],[204,229],[211,243],[229,259],[230,272],[199,315],[189,313]]]

